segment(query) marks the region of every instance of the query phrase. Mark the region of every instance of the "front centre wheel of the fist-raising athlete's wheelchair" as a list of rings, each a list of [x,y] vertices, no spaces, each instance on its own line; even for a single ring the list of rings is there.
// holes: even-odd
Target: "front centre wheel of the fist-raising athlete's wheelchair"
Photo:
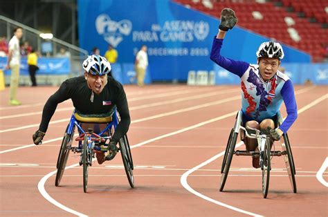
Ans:
[[[263,198],[268,196],[268,184],[270,181],[270,170],[271,170],[271,157],[270,157],[270,140],[266,139],[266,144],[264,151],[261,153],[260,158],[262,158],[262,194]],[[261,162],[261,159],[260,159]]]

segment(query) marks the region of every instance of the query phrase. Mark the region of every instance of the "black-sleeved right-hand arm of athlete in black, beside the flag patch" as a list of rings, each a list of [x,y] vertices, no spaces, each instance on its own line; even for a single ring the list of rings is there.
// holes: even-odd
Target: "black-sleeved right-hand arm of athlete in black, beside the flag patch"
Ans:
[[[120,85],[120,90],[118,96],[116,97],[116,106],[118,113],[120,113],[120,123],[118,123],[116,131],[111,140],[117,143],[118,140],[120,140],[120,138],[122,138],[123,135],[127,133],[131,123],[129,106],[127,105],[127,96],[125,95],[125,91],[122,85]]]

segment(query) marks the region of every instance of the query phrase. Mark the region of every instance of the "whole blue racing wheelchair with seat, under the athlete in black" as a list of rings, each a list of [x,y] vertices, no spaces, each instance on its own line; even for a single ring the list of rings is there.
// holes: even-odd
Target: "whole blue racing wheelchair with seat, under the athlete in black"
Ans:
[[[80,153],[79,164],[80,166],[83,165],[83,190],[86,193],[88,188],[88,171],[89,166],[92,166],[92,158],[95,158],[95,152],[97,151],[107,151],[108,144],[106,142],[111,139],[119,122],[120,116],[116,106],[114,106],[109,113],[100,115],[84,115],[78,111],[73,111],[69,125],[66,127],[60,153],[57,158],[56,187],[60,185],[60,181],[62,180],[69,153],[73,151],[73,153]],[[90,126],[91,128],[89,128]],[[100,126],[104,129],[101,130]],[[75,141],[78,141],[77,147],[72,145],[75,128],[78,128],[79,133],[78,138],[75,139]],[[122,161],[127,179],[129,180],[129,185],[133,188],[134,163],[127,135],[120,138],[118,144],[118,150],[122,155]]]

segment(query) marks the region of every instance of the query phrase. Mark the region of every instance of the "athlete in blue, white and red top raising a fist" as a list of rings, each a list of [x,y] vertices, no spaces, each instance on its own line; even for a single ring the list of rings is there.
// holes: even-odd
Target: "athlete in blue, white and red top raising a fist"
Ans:
[[[235,16],[235,12],[232,15]],[[235,17],[235,23],[237,23],[237,17]],[[224,37],[235,23],[230,26],[228,23],[228,28],[225,28],[224,19],[221,19],[219,32],[213,41],[210,59],[241,78],[243,124],[261,130],[270,127],[273,139],[280,140],[282,134],[288,131],[298,117],[291,79],[278,70],[284,51],[279,43],[267,41],[262,43],[257,50],[258,65],[222,57],[220,50]],[[280,127],[275,128],[275,115],[280,110],[282,101],[286,105],[287,117]],[[255,139],[244,138],[244,143],[247,151],[257,149]],[[253,158],[253,167],[259,167],[259,158]]]

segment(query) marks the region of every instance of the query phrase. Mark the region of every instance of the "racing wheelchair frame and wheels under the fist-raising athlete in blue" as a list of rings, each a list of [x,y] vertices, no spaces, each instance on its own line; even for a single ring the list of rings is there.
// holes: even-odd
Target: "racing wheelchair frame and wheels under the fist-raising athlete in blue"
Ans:
[[[242,126],[242,111],[239,111],[236,116],[235,126],[230,131],[230,135],[228,138],[228,143],[226,146],[226,151],[224,153],[224,160],[221,164],[221,181],[220,181],[220,188],[219,191],[224,190],[224,185],[226,184],[226,179],[228,178],[228,172],[230,169],[230,164],[233,159],[233,155],[258,155],[258,152],[255,151],[235,151],[235,145],[237,142],[237,137],[239,131],[242,129],[245,131],[245,128]],[[282,124],[282,115],[280,112],[277,113],[277,126],[280,126]],[[248,135],[247,131],[246,135]],[[248,135],[248,137],[254,138],[254,135]],[[259,135],[260,136],[260,135]],[[264,137],[264,140],[266,140],[266,137]],[[293,161],[293,154],[291,153],[291,145],[289,143],[288,134],[284,133],[283,135],[284,142],[281,142],[282,144],[282,151],[269,151],[267,152],[268,156],[275,155],[275,156],[281,156],[284,155],[284,162],[286,164],[286,169],[289,175],[289,180],[291,182],[291,187],[293,189],[293,193],[297,192],[296,188],[296,181],[295,181],[295,164]],[[267,145],[266,145],[267,147]],[[270,149],[269,149],[270,150]],[[270,164],[270,158],[267,158],[268,164]],[[263,168],[262,168],[263,169]],[[264,171],[262,170],[262,192],[264,198],[266,198],[268,193],[268,177],[270,173],[270,165],[264,174]],[[264,180],[264,175],[267,176],[267,178]],[[264,183],[265,182],[265,183]]]

